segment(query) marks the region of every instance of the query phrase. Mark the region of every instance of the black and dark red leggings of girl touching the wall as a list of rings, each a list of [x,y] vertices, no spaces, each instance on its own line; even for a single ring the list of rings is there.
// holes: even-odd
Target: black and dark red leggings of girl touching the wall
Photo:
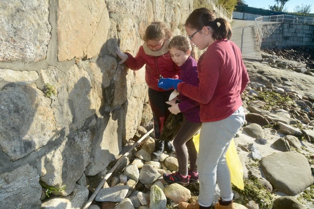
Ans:
[[[154,119],[155,139],[158,139],[160,137],[162,128],[164,127],[170,115],[170,111],[168,110],[168,107],[171,107],[171,106],[166,104],[165,102],[169,101],[169,97],[172,91],[173,90],[156,91],[151,88],[148,88],[149,103],[150,103],[150,107],[152,108],[153,119]]]

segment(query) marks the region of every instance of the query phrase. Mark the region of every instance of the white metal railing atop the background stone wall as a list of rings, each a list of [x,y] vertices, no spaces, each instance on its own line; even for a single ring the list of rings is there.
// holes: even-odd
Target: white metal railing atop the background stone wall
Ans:
[[[261,44],[263,41],[263,33],[260,26],[261,24],[271,24],[271,22],[279,23],[295,23],[295,24],[314,24],[314,17],[304,17],[304,16],[292,16],[292,15],[274,15],[274,16],[262,16],[255,18],[254,31],[256,34],[257,44],[259,49],[261,49]]]

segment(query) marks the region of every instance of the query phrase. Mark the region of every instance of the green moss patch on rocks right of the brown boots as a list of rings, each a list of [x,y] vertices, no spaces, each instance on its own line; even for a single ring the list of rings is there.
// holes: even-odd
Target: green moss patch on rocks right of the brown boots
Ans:
[[[246,205],[249,201],[254,200],[259,204],[260,208],[272,208],[274,195],[258,181],[256,176],[252,175],[251,171],[248,172],[248,178],[243,179],[243,182],[244,190],[232,186],[232,189],[237,191],[243,197],[243,199],[239,198],[238,200],[234,200],[234,202]]]

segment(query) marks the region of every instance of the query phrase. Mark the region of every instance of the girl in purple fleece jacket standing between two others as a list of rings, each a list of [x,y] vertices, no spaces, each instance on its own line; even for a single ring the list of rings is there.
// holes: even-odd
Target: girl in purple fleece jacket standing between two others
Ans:
[[[182,35],[175,36],[169,43],[169,52],[172,60],[181,70],[179,79],[190,85],[198,86],[197,61],[195,60],[197,56],[189,39]],[[189,184],[190,180],[198,181],[199,178],[196,165],[198,153],[192,138],[201,128],[202,123],[199,116],[199,103],[182,94],[179,96],[181,100],[180,103],[174,101],[166,102],[171,105],[171,107],[168,108],[170,112],[173,114],[182,112],[186,118],[186,121],[173,140],[179,169],[173,174],[164,174],[163,177],[169,183],[179,183],[186,186]],[[187,169],[188,157],[190,158],[189,170]]]

